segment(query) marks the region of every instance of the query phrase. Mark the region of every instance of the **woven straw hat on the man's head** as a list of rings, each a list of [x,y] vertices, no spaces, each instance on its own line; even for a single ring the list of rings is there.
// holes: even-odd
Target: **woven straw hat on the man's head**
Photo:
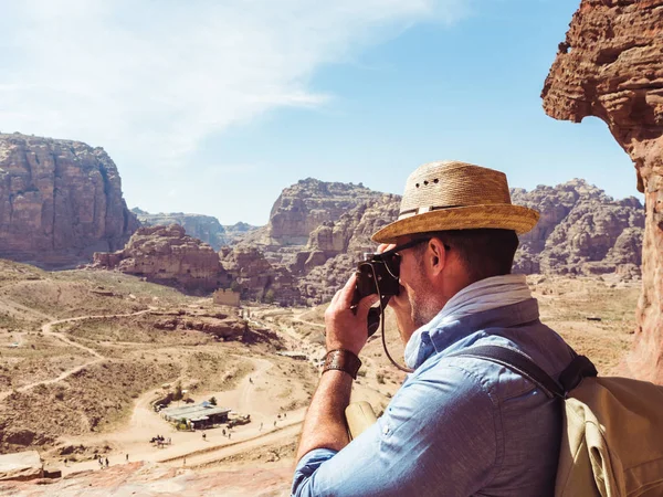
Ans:
[[[372,240],[444,230],[494,228],[527,233],[538,221],[533,209],[514,205],[504,172],[445,160],[419,167],[408,178],[398,220]]]

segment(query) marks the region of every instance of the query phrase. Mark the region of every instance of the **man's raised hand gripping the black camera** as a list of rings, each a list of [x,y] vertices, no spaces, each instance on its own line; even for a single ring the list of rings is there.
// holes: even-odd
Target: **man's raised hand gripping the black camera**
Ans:
[[[379,300],[377,295],[364,297],[357,305],[357,314],[350,309],[357,276],[352,274],[339,289],[325,311],[327,350],[345,349],[356,356],[368,339],[368,309]]]

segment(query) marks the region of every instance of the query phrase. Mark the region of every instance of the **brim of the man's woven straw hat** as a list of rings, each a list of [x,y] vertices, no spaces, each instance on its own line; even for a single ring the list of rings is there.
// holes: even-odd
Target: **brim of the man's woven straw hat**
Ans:
[[[527,233],[537,223],[539,213],[534,209],[513,204],[469,205],[430,211],[392,222],[372,235],[377,243],[397,243],[399,236],[446,230],[477,230],[482,228],[514,230]]]

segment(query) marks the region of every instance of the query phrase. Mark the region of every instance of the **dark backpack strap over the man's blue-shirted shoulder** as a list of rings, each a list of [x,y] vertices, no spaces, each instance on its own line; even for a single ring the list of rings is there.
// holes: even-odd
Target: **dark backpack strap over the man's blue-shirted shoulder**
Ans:
[[[582,378],[597,376],[597,369],[587,357],[578,356],[576,352],[573,355],[569,366],[559,374],[559,382],[525,353],[506,347],[491,345],[470,347],[448,357],[473,357],[496,362],[527,378],[543,389],[548,396],[566,399],[567,393],[575,389]]]

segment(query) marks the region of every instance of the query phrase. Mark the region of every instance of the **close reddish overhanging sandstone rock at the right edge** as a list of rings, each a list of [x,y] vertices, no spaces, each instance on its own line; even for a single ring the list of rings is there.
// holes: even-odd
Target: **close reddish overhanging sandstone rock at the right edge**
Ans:
[[[663,0],[582,0],[546,80],[546,113],[596,116],[645,194],[642,298],[631,373],[663,383]],[[623,240],[628,245],[630,242]]]

